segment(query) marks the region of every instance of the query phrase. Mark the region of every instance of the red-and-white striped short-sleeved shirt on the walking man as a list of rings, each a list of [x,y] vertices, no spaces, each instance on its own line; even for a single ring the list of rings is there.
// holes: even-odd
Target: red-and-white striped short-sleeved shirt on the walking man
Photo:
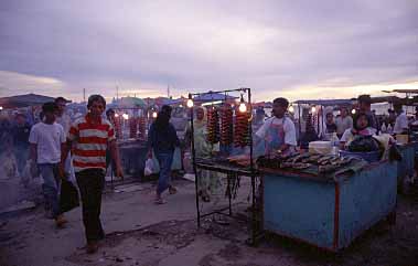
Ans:
[[[106,171],[106,149],[115,140],[115,131],[107,119],[93,124],[88,115],[76,120],[69,129],[68,140],[74,142],[75,172],[86,169]]]

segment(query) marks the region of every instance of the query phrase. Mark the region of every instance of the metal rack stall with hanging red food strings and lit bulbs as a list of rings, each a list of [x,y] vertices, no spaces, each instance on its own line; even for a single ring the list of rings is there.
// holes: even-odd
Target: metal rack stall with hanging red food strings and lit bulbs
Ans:
[[[234,99],[229,94],[240,94],[239,107],[234,109],[228,100]],[[207,137],[206,140],[212,145],[233,146],[236,149],[245,150],[248,148],[248,155],[243,155],[242,160],[237,157],[228,157],[228,155],[216,153],[208,157],[196,156],[196,145],[194,139],[194,102],[208,100],[207,105]],[[214,100],[216,99],[216,100]],[[219,102],[221,103],[216,103]],[[215,106],[218,105],[218,106]],[[190,94],[187,100],[190,108],[191,121],[191,145],[192,145],[192,164],[195,173],[195,199],[197,212],[197,226],[201,226],[201,219],[207,215],[224,214],[233,216],[232,200],[242,177],[251,180],[251,244],[255,244],[257,237],[257,214],[256,214],[256,179],[258,172],[255,169],[253,158],[253,131],[251,131],[251,92],[250,88],[228,89],[222,92],[207,92]],[[244,159],[243,159],[244,158]],[[204,171],[217,172],[226,174],[228,206],[219,210],[213,210],[210,213],[202,213],[200,205],[199,182],[203,178]],[[235,192],[234,192],[235,190]],[[225,211],[227,211],[225,213]]]

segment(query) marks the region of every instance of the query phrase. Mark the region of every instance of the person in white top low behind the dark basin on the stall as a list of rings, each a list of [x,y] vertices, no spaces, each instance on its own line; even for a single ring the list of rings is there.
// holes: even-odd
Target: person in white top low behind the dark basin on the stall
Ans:
[[[340,148],[345,149],[355,136],[373,136],[376,129],[372,127],[371,117],[365,113],[354,115],[353,128],[346,129],[340,139]]]

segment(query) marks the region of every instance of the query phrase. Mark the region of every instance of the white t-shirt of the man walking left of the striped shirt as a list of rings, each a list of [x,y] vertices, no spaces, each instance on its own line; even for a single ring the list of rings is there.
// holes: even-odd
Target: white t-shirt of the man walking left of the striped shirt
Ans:
[[[57,163],[61,161],[61,145],[65,142],[63,126],[37,123],[31,129],[29,142],[37,145],[37,163]]]

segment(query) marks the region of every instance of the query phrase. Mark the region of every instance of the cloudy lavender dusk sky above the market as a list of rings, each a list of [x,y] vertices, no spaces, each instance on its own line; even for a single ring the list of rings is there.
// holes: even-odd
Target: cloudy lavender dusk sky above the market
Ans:
[[[418,88],[417,0],[1,0],[0,96]]]

